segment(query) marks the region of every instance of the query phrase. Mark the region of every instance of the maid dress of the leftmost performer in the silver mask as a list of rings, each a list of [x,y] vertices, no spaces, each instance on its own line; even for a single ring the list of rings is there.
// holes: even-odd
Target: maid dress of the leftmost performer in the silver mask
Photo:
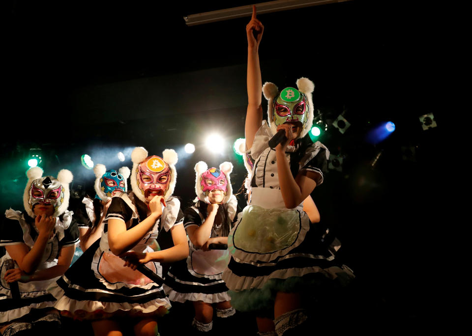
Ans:
[[[79,229],[73,221],[72,215],[72,211],[66,211],[56,218],[53,235],[47,242],[37,271],[56,266],[61,249],[79,243]],[[3,220],[0,227],[0,246],[26,244],[29,249],[32,249],[38,238],[34,219],[29,217],[26,212],[12,209],[5,211],[5,217],[6,219]],[[54,307],[56,299],[46,289],[59,277],[49,280],[18,282],[21,299],[14,300],[10,293],[10,283],[4,279],[7,259],[11,259],[8,252],[0,258],[0,324],[21,318],[27,315],[31,309]]]

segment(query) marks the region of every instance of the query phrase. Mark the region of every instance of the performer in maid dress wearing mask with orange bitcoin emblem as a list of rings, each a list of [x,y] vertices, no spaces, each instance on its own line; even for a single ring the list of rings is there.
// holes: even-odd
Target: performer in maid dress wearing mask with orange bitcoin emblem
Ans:
[[[141,259],[162,276],[160,261],[188,255],[180,202],[172,197],[177,153],[166,149],[160,158],[136,147],[131,160],[133,192],[112,197],[102,237],[49,288],[58,299],[56,308],[66,315],[92,320],[95,335],[154,335],[156,317],[171,307],[160,283],[152,282],[135,267],[124,267],[131,264],[119,256]],[[159,229],[171,232],[175,246],[153,252],[149,245]]]

